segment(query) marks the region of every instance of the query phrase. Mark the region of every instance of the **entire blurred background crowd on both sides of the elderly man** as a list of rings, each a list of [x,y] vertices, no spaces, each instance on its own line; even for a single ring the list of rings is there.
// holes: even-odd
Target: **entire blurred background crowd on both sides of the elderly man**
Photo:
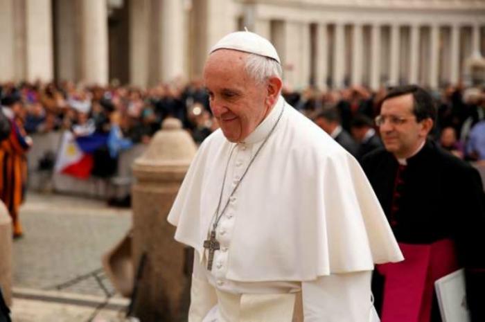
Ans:
[[[385,93],[384,88],[374,92],[365,87],[330,91],[311,87],[303,91],[283,89],[290,105],[314,119],[329,134],[335,127],[326,128],[317,120],[323,117],[349,133],[355,147],[348,150],[356,156],[358,145],[373,128]],[[436,141],[460,158],[485,159],[480,138],[485,135],[485,91],[457,85],[432,91],[432,95],[439,110],[433,132]],[[201,143],[218,127],[202,80],[158,84],[148,89],[91,87],[73,82],[8,82],[0,84],[0,96],[16,96],[21,100],[23,109],[19,118],[28,134],[71,129],[75,136],[85,136],[93,132],[109,133],[116,126],[123,139],[134,144],[148,143],[162,121],[172,116],[182,122],[196,143]]]

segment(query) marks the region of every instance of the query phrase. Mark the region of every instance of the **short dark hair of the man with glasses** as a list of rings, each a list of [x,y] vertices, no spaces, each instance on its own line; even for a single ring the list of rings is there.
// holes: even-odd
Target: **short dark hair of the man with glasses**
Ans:
[[[398,86],[391,89],[387,95],[382,99],[380,105],[389,98],[394,98],[397,96],[403,96],[407,94],[412,94],[414,104],[413,104],[413,114],[416,116],[416,120],[420,122],[425,118],[431,118],[433,121],[436,119],[436,105],[435,102],[425,89],[418,87],[417,85],[404,85]]]

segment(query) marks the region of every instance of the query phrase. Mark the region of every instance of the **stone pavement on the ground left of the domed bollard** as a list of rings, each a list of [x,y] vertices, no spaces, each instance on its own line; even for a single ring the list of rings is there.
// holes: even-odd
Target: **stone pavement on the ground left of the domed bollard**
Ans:
[[[24,238],[13,243],[14,322],[124,321],[101,256],[131,226],[130,209],[64,195],[28,192]]]

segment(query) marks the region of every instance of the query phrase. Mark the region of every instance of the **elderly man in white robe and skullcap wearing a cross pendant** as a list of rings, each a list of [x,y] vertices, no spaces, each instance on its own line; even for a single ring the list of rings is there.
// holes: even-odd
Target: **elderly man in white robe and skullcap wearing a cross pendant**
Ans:
[[[374,263],[403,257],[358,162],[281,97],[267,39],[223,37],[204,84],[220,129],[168,215],[195,249],[188,321],[371,321]]]

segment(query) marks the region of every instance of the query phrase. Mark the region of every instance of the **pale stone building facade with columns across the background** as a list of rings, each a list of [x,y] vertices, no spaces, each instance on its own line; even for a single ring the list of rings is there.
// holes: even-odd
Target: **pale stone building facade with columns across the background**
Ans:
[[[223,35],[247,27],[284,81],[340,88],[456,84],[485,54],[483,0],[0,0],[0,81],[147,87],[197,78]]]

